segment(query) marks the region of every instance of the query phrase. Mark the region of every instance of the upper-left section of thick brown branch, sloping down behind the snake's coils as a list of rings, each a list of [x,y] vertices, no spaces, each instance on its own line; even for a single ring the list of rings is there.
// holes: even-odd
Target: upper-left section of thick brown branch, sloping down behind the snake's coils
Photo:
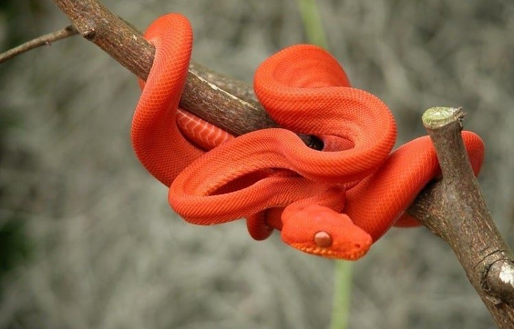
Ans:
[[[96,0],[53,0],[84,38],[114,60],[146,80],[155,48],[139,32]],[[230,80],[195,62],[189,67],[180,106],[234,134],[278,127],[260,106],[250,86]],[[307,145],[319,148],[314,136],[301,135]]]

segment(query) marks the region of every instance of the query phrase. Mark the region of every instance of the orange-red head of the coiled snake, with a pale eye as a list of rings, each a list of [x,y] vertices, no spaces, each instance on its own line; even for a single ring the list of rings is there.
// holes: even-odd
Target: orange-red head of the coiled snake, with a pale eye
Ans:
[[[371,236],[350,217],[316,204],[284,210],[281,236],[285,243],[302,252],[345,260],[364,256],[373,243]]]

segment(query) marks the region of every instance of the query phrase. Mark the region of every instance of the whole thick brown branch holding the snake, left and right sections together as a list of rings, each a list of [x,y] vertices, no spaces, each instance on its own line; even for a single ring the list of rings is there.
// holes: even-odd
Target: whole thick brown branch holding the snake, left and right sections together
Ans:
[[[82,36],[138,77],[147,77],[154,47],[132,27],[95,0],[53,1]],[[180,103],[186,110],[236,135],[276,126],[246,84],[195,63],[189,72]],[[408,213],[448,242],[498,326],[511,328],[513,255],[495,228],[469,169],[460,135],[461,114],[450,113],[442,125],[434,125],[430,115],[424,116],[444,178],[425,188]]]

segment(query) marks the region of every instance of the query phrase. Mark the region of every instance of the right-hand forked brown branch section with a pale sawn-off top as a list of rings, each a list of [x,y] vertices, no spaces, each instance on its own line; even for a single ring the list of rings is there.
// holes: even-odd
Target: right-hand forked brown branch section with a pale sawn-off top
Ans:
[[[487,210],[461,138],[460,108],[431,108],[423,116],[443,171],[408,212],[455,252],[469,282],[500,328],[514,324],[514,256]],[[427,202],[428,199],[430,202]]]

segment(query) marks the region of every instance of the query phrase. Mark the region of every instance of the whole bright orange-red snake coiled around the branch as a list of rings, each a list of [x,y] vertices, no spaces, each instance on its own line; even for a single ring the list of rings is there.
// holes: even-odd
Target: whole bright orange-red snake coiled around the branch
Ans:
[[[156,53],[147,82],[140,82],[132,144],[146,169],[169,186],[169,203],[186,221],[247,217],[255,239],[277,229],[302,252],[347,260],[366,254],[391,226],[417,224],[403,212],[441,174],[430,139],[391,153],[396,125],[389,108],[350,87],[329,53],[295,45],[265,60],[255,92],[284,129],[233,138],[178,109],[193,44],[188,20],[161,16],[145,38]],[[323,150],[310,149],[296,133],[319,136]],[[478,174],[482,141],[472,132],[462,137]]]

